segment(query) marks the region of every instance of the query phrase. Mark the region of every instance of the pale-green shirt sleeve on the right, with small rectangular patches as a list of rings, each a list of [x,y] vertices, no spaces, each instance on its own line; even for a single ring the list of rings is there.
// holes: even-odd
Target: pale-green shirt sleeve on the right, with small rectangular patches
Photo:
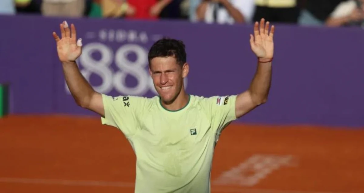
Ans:
[[[211,126],[220,133],[230,122],[236,120],[236,95],[212,96],[207,99],[211,111]]]

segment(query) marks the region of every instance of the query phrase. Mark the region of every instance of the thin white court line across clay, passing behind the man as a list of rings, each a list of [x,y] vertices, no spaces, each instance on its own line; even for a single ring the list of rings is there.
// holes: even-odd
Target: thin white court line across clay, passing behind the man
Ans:
[[[107,187],[134,187],[130,182],[108,182],[108,181],[88,181],[88,180],[51,180],[51,179],[32,179],[32,178],[0,178],[0,183],[19,183],[19,184],[47,184],[47,185],[68,185],[68,186],[107,186]],[[227,189],[227,190],[226,190]],[[213,192],[224,193],[344,193],[344,192],[315,192],[299,190],[272,190],[272,189],[248,189],[230,187],[223,188],[221,185],[213,185]]]

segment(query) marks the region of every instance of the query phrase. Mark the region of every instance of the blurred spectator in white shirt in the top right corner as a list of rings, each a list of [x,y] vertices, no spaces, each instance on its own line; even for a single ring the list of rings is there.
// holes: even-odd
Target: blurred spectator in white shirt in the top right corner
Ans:
[[[327,26],[364,25],[364,0],[341,2],[326,21]]]

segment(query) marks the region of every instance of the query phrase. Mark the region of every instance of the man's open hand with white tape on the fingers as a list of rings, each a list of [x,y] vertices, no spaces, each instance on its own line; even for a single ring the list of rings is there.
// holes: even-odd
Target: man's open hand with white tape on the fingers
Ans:
[[[61,30],[61,39],[53,32],[53,37],[57,43],[57,52],[59,60],[62,63],[75,62],[82,52],[82,39],[76,40],[76,28],[71,24],[71,29],[68,27],[67,21],[59,24]]]

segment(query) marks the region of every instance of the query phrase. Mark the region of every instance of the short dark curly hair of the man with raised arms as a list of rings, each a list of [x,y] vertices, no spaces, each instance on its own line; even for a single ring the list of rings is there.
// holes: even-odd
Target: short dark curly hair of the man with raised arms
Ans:
[[[155,42],[149,50],[149,65],[153,58],[172,56],[176,59],[177,64],[182,67],[187,60],[185,48],[185,44],[181,40],[162,38]]]

